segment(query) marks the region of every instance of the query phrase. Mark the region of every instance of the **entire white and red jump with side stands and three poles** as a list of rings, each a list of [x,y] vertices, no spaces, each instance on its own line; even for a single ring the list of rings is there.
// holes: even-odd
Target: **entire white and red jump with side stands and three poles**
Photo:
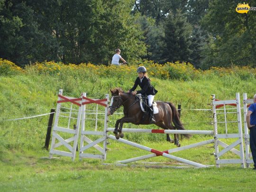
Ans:
[[[242,121],[241,121],[241,109],[240,109],[240,96],[239,93],[236,94],[235,100],[217,100],[215,99],[215,95],[212,95],[212,112],[213,112],[213,131],[208,130],[160,130],[160,129],[134,129],[134,128],[123,128],[122,132],[129,133],[152,133],[152,134],[205,134],[212,135],[213,138],[210,140],[193,143],[190,145],[186,145],[179,148],[174,148],[165,151],[159,151],[155,149],[151,149],[149,147],[143,146],[141,144],[130,142],[125,139],[117,140],[115,136],[111,135],[110,132],[113,132],[114,128],[108,127],[108,116],[107,116],[107,108],[109,102],[109,94],[106,94],[105,99],[90,99],[86,97],[86,93],[82,93],[80,98],[71,98],[67,96],[63,96],[63,90],[59,91],[57,107],[55,112],[55,122],[53,126],[52,133],[52,142],[49,151],[49,157],[52,158],[53,155],[60,155],[71,157],[74,161],[76,156],[76,148],[78,145],[78,137],[80,134],[80,147],[79,147],[79,159],[83,158],[95,158],[105,160],[107,156],[107,139],[115,140],[117,142],[125,143],[130,146],[136,147],[141,150],[146,150],[151,152],[151,154],[135,157],[131,159],[125,159],[118,161],[119,163],[130,163],[135,162],[142,159],[149,159],[157,156],[163,156],[168,159],[174,159],[176,161],[185,163],[194,167],[209,167],[207,165],[203,165],[200,163],[193,162],[188,159],[183,159],[180,157],[176,157],[171,155],[171,153],[188,150],[195,147],[207,145],[213,143],[214,145],[214,157],[216,161],[216,167],[220,167],[221,164],[240,164],[241,167],[245,168],[246,164],[249,167],[249,164],[252,163],[252,159],[250,159],[251,155],[249,153],[248,148],[248,129],[245,124],[245,146],[246,146],[246,156],[244,156],[244,147],[243,147],[243,131],[242,131]],[[244,94],[244,118],[246,117],[247,112],[247,103],[251,103],[252,100],[247,100],[246,93]],[[65,106],[64,106],[65,104]],[[96,113],[90,113],[90,109],[86,109],[86,106],[91,104],[96,105]],[[226,109],[227,105],[235,106],[232,110],[236,109],[235,112],[228,112],[229,109]],[[104,119],[103,120],[103,129],[101,131],[97,130],[97,123],[95,123],[95,130],[87,130],[86,123],[88,123],[88,116],[90,114],[100,114],[98,112],[98,106],[104,108]],[[223,112],[218,112],[220,107],[224,107]],[[245,109],[246,108],[246,109]],[[237,121],[228,121],[228,114],[237,114]],[[217,121],[217,117],[220,115],[224,115],[224,121]],[[60,118],[62,119],[60,121]],[[64,120],[65,119],[65,120]],[[65,123],[64,123],[65,122]],[[97,122],[97,120],[96,120]],[[228,133],[228,124],[238,124],[238,131],[236,133]],[[65,124],[65,125],[63,125]],[[71,124],[73,125],[73,129],[70,128]],[[225,124],[225,133],[218,133],[218,124]],[[81,131],[80,131],[81,126]],[[91,136],[92,138],[89,138]],[[235,142],[230,145],[220,141],[224,139],[236,139]],[[94,140],[93,140],[94,139]],[[101,143],[101,145],[100,145]],[[239,150],[235,149],[236,146],[239,146]],[[223,149],[220,150],[220,147]],[[91,148],[94,148],[95,151],[91,152]],[[89,151],[89,152],[88,152]],[[222,159],[221,157],[227,153],[228,151],[233,152],[238,156],[238,159]]]

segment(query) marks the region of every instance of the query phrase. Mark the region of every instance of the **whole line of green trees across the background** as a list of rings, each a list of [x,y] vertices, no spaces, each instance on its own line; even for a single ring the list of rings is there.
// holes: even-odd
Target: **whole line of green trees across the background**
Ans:
[[[256,11],[239,0],[0,0],[0,58],[108,65],[185,61],[256,67]],[[256,0],[249,1],[256,7]]]

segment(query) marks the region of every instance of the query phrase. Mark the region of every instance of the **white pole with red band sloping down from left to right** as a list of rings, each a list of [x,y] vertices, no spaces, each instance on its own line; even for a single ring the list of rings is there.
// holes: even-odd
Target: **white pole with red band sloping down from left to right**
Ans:
[[[143,146],[143,145],[140,145],[140,144],[137,144],[135,142],[130,142],[130,141],[127,141],[125,139],[116,139],[115,136],[113,135],[108,135],[108,138],[112,139],[112,140],[115,140],[115,141],[118,141],[118,142],[122,142],[122,143],[125,143],[125,144],[128,144],[128,145],[131,145],[133,147],[137,147],[141,150],[146,150],[146,151],[149,151],[149,152],[152,152],[152,153],[155,153],[156,155],[161,155],[163,157],[166,157],[166,158],[169,158],[169,159],[174,159],[176,161],[180,161],[180,162],[183,162],[185,164],[188,164],[188,165],[192,165],[192,166],[195,166],[195,167],[208,167],[206,165],[202,165],[200,163],[195,163],[193,161],[190,161],[190,160],[187,160],[187,159],[182,159],[182,158],[179,158],[179,157],[175,157],[173,155],[170,155],[170,154],[167,154],[165,152],[162,152],[162,151],[159,151],[159,150],[154,150],[154,149],[151,149],[149,147],[146,147],[146,146]]]

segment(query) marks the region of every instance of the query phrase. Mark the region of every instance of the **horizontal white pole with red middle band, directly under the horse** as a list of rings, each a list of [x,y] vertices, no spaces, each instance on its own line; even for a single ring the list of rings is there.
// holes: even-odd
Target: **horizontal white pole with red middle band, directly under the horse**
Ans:
[[[114,131],[114,128],[107,128],[107,131]],[[213,135],[213,131],[203,130],[167,130],[167,129],[128,129],[123,128],[122,132],[127,133],[151,133],[151,134],[210,134]]]

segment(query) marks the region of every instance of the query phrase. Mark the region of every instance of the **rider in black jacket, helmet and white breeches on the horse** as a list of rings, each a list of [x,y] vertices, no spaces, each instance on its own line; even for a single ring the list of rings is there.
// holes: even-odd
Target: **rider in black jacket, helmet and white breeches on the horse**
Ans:
[[[148,107],[150,108],[150,123],[155,123],[154,118],[154,110],[153,110],[153,100],[157,90],[150,84],[151,80],[146,75],[146,68],[144,66],[140,66],[137,68],[138,77],[135,80],[133,87],[128,91],[133,95],[142,94],[144,96],[147,95],[148,98]],[[141,90],[135,91],[137,86],[140,86]]]

